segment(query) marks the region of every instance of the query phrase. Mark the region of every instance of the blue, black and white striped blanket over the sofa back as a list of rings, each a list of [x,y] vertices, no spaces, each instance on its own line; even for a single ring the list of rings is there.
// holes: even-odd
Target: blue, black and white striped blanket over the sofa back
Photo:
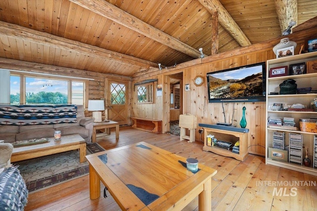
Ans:
[[[1,105],[0,125],[52,125],[76,123],[77,106],[63,105]]]

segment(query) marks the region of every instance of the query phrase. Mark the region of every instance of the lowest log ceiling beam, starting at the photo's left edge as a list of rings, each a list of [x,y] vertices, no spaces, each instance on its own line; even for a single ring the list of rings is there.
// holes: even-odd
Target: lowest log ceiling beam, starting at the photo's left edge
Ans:
[[[102,59],[109,59],[125,65],[133,65],[139,67],[140,70],[146,70],[151,67],[158,67],[158,64],[154,62],[106,50],[94,45],[72,41],[66,38],[61,38],[45,32],[39,32],[33,29],[6,23],[3,21],[0,21],[0,35],[27,40],[30,42],[41,43],[44,45],[70,50],[81,54],[87,54],[89,56],[95,56]]]

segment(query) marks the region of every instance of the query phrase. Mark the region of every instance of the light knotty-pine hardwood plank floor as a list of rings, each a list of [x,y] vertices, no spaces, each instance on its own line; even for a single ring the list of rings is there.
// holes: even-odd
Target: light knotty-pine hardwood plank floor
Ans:
[[[212,178],[212,210],[224,211],[317,211],[317,176],[265,165],[265,159],[249,155],[243,162],[203,151],[203,143],[180,141],[179,136],[153,134],[131,127],[98,137],[105,149],[145,141],[185,158],[197,158],[200,163],[217,169]],[[302,184],[307,181],[308,183]],[[281,182],[282,184],[275,184]],[[294,184],[291,184],[295,182]],[[299,184],[298,184],[299,183]],[[275,192],[274,192],[275,189]],[[103,196],[104,185],[101,185]],[[277,191],[277,192],[276,192]],[[278,192],[279,191],[279,192]],[[274,195],[274,196],[273,196]],[[129,200],[129,199],[127,199]],[[111,196],[89,199],[89,176],[64,182],[30,193],[25,211],[119,211]],[[184,211],[198,211],[198,198]]]

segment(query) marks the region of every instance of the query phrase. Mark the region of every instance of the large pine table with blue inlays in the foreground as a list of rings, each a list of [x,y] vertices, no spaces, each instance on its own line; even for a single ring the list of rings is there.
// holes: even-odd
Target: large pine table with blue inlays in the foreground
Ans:
[[[87,155],[90,199],[100,197],[100,181],[122,210],[183,209],[199,196],[199,210],[211,211],[211,176],[217,171],[199,164],[186,169],[186,158],[146,142]]]

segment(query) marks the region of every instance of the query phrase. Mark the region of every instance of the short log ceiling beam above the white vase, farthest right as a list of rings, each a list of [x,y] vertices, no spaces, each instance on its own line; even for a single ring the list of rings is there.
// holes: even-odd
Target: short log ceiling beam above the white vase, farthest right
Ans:
[[[297,0],[275,0],[275,8],[281,32],[288,27],[291,20],[298,22]]]

